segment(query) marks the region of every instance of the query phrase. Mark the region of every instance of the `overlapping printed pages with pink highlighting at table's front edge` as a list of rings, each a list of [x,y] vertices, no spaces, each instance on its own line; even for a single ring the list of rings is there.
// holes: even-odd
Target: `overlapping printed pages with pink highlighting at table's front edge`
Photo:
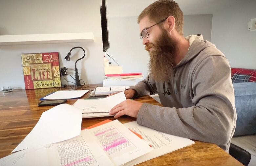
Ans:
[[[114,120],[89,130],[82,130],[79,136],[65,141],[16,152],[1,158],[0,163],[17,166],[113,166],[123,165],[152,150],[118,120]]]

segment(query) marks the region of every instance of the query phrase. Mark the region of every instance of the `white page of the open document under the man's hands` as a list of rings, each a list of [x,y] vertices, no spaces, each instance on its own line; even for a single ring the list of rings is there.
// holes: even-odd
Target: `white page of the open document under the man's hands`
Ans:
[[[73,106],[82,109],[83,113],[108,113],[114,106],[125,100],[124,92],[120,92],[103,99],[78,99]]]

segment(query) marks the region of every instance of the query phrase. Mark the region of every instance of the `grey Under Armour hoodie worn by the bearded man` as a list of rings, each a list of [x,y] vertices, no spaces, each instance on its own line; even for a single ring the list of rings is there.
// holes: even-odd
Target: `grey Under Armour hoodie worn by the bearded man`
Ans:
[[[156,82],[149,75],[131,89],[136,96],[158,93],[164,106],[144,103],[138,124],[228,151],[237,118],[231,68],[224,54],[202,35],[170,70],[169,80]]]

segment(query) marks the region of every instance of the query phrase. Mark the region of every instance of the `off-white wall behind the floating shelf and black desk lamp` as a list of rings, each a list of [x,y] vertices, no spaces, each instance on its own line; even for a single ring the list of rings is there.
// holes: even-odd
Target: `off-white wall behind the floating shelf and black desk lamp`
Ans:
[[[41,34],[93,32],[95,42],[0,46],[0,87],[25,88],[22,53],[59,52],[60,67],[75,67],[83,51],[72,51],[71,61],[64,57],[74,46],[86,49],[86,58],[77,63],[80,78],[86,83],[102,83],[104,78],[99,1],[96,0],[11,0],[0,1],[0,34]],[[74,76],[74,72],[69,74]],[[65,76],[73,81],[70,76]],[[68,84],[62,79],[64,84]],[[72,84],[72,83],[71,83]]]

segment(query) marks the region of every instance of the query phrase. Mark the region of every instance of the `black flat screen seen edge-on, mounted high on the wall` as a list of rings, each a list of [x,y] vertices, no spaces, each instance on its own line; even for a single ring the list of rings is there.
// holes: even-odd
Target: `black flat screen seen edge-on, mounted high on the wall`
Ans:
[[[102,2],[101,2],[100,15],[101,15],[101,31],[102,31],[103,52],[106,52],[106,50],[109,48],[108,17],[107,17],[106,0],[102,0]]]

